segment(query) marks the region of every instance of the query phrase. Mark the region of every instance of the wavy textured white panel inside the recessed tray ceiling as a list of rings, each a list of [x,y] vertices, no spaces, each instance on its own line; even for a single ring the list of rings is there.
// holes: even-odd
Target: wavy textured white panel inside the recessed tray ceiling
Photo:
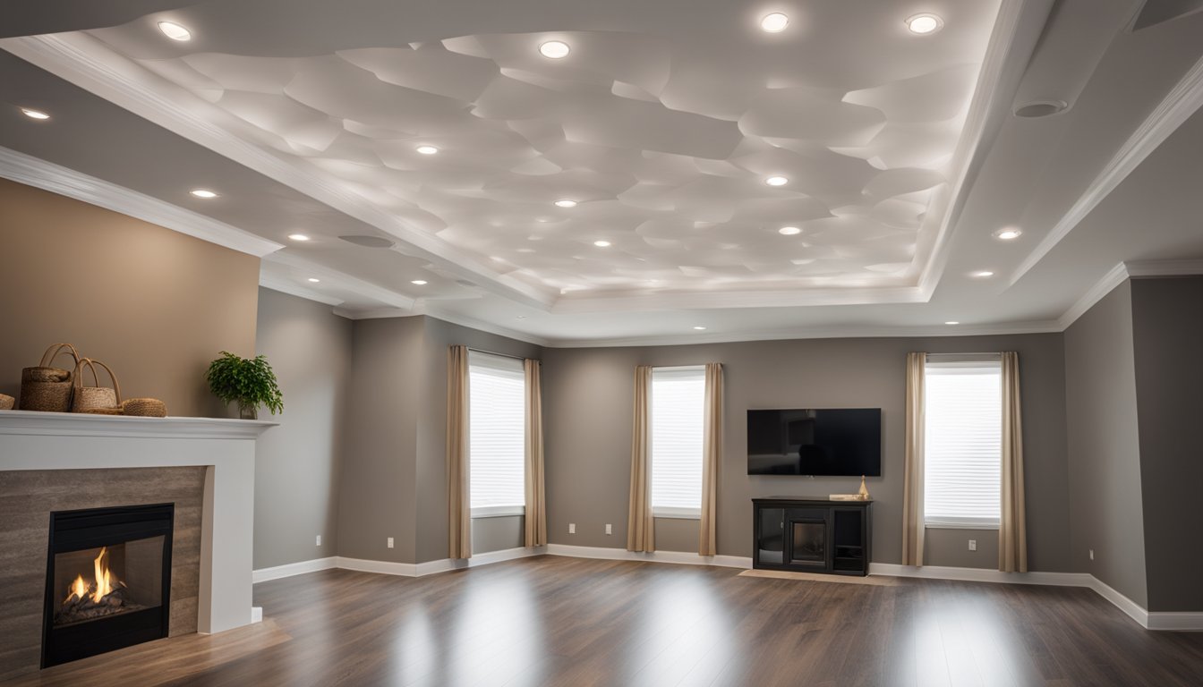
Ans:
[[[549,30],[529,7],[416,19],[369,45],[93,35],[499,274],[597,297],[913,284],[997,10],[973,5],[925,37],[903,25],[912,4],[879,0],[787,8],[776,35],[755,22],[778,7],[743,2],[555,24],[604,30]],[[547,40],[571,54],[541,57]]]

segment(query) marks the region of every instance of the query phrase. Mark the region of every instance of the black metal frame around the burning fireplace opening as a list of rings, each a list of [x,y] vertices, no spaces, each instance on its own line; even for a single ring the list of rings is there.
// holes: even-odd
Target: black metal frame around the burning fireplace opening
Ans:
[[[174,520],[174,503],[51,513],[46,600],[42,610],[42,668],[167,636],[171,620],[171,549]],[[55,553],[115,546],[135,539],[160,535],[164,538],[164,585],[162,603],[158,608],[54,627],[54,610],[61,591],[53,588]]]

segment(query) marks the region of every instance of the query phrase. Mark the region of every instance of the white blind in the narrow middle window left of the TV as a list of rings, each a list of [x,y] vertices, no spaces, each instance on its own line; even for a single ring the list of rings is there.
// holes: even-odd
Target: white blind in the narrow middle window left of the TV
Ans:
[[[652,515],[701,517],[704,367],[652,369]]]

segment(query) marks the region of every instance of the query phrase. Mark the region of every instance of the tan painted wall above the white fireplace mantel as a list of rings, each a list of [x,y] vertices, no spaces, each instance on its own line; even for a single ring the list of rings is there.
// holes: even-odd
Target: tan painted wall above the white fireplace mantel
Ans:
[[[0,179],[0,393],[70,342],[126,397],[226,416],[202,375],[223,349],[254,354],[257,291],[253,255]]]

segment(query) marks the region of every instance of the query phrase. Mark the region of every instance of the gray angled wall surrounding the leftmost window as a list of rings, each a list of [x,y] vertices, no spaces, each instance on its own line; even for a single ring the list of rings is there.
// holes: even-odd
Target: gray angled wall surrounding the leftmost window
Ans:
[[[448,348],[534,359],[543,349],[425,315],[357,320],[352,340],[338,553],[401,563],[446,558]],[[386,547],[389,537],[395,549]],[[474,552],[521,545],[521,517],[473,523]]]

